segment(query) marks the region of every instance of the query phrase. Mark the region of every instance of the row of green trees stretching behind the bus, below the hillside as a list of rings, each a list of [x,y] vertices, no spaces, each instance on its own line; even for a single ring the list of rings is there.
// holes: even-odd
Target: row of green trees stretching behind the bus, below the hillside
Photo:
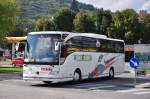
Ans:
[[[33,0],[30,0],[33,1]],[[39,2],[37,0],[35,2]],[[57,2],[56,2],[57,1]],[[35,2],[30,2],[31,5]],[[47,2],[40,1],[40,2]],[[49,2],[58,3],[58,0],[50,0]],[[29,2],[28,2],[29,3]],[[39,3],[40,4],[40,3]],[[64,1],[63,4],[59,6],[68,6],[71,4],[70,0]],[[150,43],[150,14],[138,14],[133,9],[126,9],[123,11],[117,11],[115,13],[110,12],[109,10],[103,9],[93,9],[92,6],[84,6],[84,4],[78,3],[80,8],[80,13],[76,15],[67,8],[61,8],[57,11],[53,17],[46,17],[49,14],[40,14],[38,17],[44,16],[36,21],[36,31],[45,31],[45,30],[59,30],[59,31],[75,31],[83,33],[98,33],[104,34],[108,37],[123,39],[127,44],[138,43],[138,40],[141,39],[142,43]],[[53,7],[49,7],[53,8]],[[84,9],[81,10],[81,8]],[[90,14],[84,13],[94,11]],[[45,10],[45,9],[44,9]],[[42,9],[41,9],[42,11]],[[52,11],[53,13],[55,11]],[[83,11],[83,12],[82,12]],[[41,13],[38,11],[38,13]],[[35,15],[35,13],[34,13]],[[142,17],[141,17],[142,16]],[[35,16],[37,18],[37,16]],[[139,20],[139,18],[142,19]]]

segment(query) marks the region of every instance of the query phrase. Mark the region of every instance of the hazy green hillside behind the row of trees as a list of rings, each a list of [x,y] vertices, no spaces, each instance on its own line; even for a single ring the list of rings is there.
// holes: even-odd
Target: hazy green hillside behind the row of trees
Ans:
[[[70,8],[72,0],[20,0],[23,19],[37,19],[53,15],[61,7]],[[95,10],[92,5],[77,2],[81,12],[90,13]]]

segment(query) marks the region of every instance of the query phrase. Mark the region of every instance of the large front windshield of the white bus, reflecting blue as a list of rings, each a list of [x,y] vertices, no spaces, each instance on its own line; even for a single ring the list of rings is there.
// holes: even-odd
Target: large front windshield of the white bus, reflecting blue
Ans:
[[[59,34],[28,35],[24,61],[58,64],[59,49],[56,50],[55,47],[60,39],[61,35]]]

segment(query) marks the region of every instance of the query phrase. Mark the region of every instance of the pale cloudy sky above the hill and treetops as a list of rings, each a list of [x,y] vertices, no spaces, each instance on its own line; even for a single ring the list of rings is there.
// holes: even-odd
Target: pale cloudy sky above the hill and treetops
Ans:
[[[150,0],[77,0],[79,2],[92,4],[97,8],[111,10],[123,10],[132,8],[139,12],[140,10],[147,10],[150,13]]]

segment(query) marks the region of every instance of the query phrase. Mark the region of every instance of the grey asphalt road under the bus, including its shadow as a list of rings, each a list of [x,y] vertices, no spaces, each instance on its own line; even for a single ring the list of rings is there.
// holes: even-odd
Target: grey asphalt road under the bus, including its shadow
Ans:
[[[144,88],[140,85],[150,80],[138,79],[134,88],[132,77],[124,74],[114,80],[100,78],[51,85],[16,78],[1,79],[0,99],[149,99],[149,86]]]

